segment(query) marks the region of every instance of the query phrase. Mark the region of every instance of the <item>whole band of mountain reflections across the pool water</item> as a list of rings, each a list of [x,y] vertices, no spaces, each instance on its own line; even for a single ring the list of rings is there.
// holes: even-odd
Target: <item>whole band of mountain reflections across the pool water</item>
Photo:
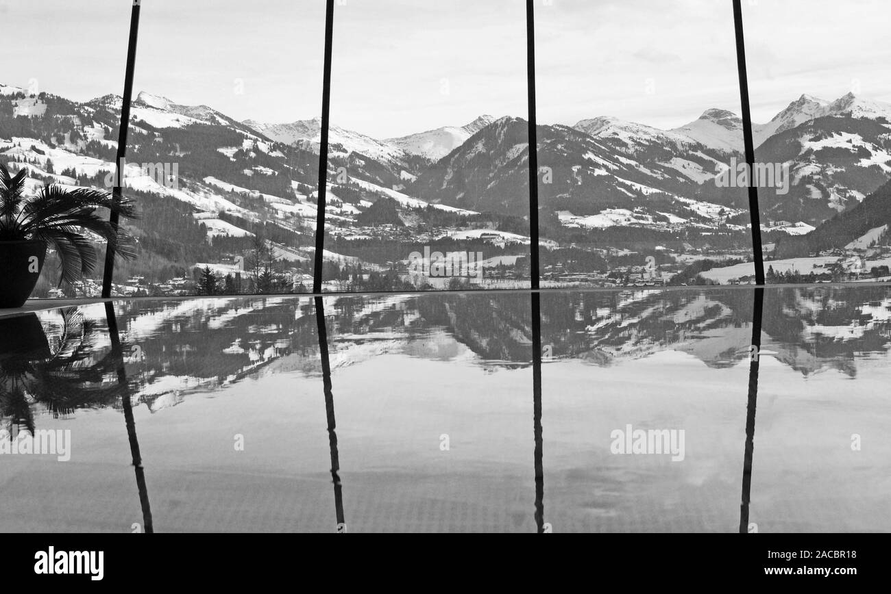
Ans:
[[[804,375],[836,369],[854,377],[858,365],[887,352],[891,289],[765,293],[764,356]],[[737,365],[748,357],[752,306],[745,289],[544,293],[545,361],[613,365],[667,349],[711,367]],[[104,311],[81,312],[101,334],[88,360],[100,361],[110,350]],[[531,365],[525,294],[326,297],[325,315],[334,368],[386,354],[486,368]],[[58,319],[57,312],[42,314],[51,338]],[[134,301],[118,306],[118,324],[131,394],[152,411],[258,373],[321,373],[308,299]]]

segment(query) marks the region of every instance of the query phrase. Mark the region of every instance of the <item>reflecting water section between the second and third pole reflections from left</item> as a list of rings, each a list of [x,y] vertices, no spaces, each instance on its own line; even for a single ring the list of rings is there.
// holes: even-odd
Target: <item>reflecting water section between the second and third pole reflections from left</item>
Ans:
[[[324,309],[347,531],[534,532],[527,295]]]

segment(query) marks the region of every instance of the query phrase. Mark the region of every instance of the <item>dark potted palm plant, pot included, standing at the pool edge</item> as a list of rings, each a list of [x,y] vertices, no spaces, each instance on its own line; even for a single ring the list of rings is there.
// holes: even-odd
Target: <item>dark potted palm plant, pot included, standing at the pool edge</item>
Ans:
[[[28,300],[47,248],[59,256],[60,285],[93,271],[98,260],[95,239],[104,240],[116,256],[135,256],[133,237],[112,226],[101,210],[133,219],[131,199],[116,200],[107,191],[56,183],[27,196],[27,179],[27,169],[12,175],[0,164],[0,308],[18,308]]]

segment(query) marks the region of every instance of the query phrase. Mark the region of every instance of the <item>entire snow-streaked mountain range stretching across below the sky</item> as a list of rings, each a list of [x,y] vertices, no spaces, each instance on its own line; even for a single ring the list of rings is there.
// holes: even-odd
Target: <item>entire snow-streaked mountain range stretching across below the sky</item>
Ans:
[[[15,131],[0,130],[5,157],[63,182],[73,181],[72,169],[90,178],[110,171],[119,96],[86,103],[50,96],[46,116],[29,112],[32,130],[25,133],[25,122],[15,117],[23,91],[0,89],[5,101],[0,123]],[[887,181],[889,118],[891,105],[853,94],[834,101],[803,95],[768,124],[757,125],[756,138],[764,138],[757,145],[758,160],[789,164],[792,173],[788,195],[761,193],[764,219],[792,223],[773,229],[816,227]],[[247,237],[260,221],[294,233],[315,222],[319,118],[241,122],[206,105],[140,92],[130,124],[130,143],[141,159],[154,163],[189,156],[179,189],[146,176],[132,178],[141,184],[137,189],[195,209],[215,237]],[[383,205],[380,210],[387,211],[388,220],[402,221],[406,234],[420,237],[447,221],[436,231],[447,235],[466,226],[461,218],[483,215],[513,218],[511,232],[523,231],[518,221],[528,214],[525,120],[479,116],[463,126],[390,140],[332,125],[329,140],[328,213],[331,232],[341,237],[373,227],[361,224],[360,217],[380,198],[396,205],[397,213]],[[672,130],[611,116],[574,126],[542,124],[537,149],[539,165],[547,171],[540,178],[539,205],[554,226],[579,234],[642,229],[628,233],[656,231],[675,239],[721,229],[745,239],[745,190],[718,188],[714,182],[732,157],[741,157],[740,119],[730,111],[707,109]],[[55,173],[48,171],[50,160]],[[346,179],[339,177],[343,168]],[[435,206],[435,216],[425,214],[428,205]],[[218,219],[220,213],[225,220]]]

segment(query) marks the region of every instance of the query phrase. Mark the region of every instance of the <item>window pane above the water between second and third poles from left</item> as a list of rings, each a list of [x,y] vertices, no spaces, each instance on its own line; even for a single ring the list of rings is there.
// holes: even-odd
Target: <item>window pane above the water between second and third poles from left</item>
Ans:
[[[525,23],[520,0],[336,6],[326,291],[528,286]]]

